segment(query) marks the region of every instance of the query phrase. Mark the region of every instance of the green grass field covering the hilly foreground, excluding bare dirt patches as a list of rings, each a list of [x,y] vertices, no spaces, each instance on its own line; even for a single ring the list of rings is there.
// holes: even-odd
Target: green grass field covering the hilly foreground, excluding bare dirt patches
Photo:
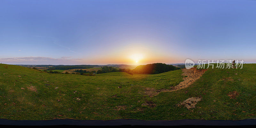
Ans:
[[[195,83],[154,97],[145,88],[170,88],[182,81],[181,70],[156,75],[111,72],[96,76],[49,74],[0,64],[0,118],[240,120],[256,118],[256,64],[243,69],[208,69]],[[237,75],[235,75],[237,74]],[[21,76],[21,77],[19,77]],[[119,86],[119,88],[118,88]],[[230,99],[229,92],[239,95]],[[176,104],[201,97],[196,108]],[[153,103],[144,106],[143,103]]]

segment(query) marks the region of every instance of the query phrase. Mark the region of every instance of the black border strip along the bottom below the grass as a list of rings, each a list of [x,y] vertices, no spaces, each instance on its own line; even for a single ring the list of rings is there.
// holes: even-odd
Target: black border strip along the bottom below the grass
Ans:
[[[7,120],[0,119],[0,125],[84,125],[84,126],[116,126],[116,125],[158,125],[158,126],[180,126],[180,125],[210,125],[210,126],[238,126],[256,125],[256,119],[246,120],[172,120],[172,121],[146,121],[134,119],[118,120]]]

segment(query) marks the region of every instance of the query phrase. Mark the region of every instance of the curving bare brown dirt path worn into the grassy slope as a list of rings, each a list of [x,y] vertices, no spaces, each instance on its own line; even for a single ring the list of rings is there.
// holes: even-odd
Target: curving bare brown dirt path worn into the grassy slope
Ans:
[[[146,88],[145,93],[148,94],[150,97],[153,97],[159,94],[160,92],[172,92],[172,91],[186,88],[190,84],[194,83],[197,79],[199,79],[207,69],[183,68],[181,70],[183,72],[182,76],[186,76],[186,77],[183,77],[184,81],[180,82],[177,86],[174,86],[171,89],[160,89],[160,90],[156,90],[154,88]]]

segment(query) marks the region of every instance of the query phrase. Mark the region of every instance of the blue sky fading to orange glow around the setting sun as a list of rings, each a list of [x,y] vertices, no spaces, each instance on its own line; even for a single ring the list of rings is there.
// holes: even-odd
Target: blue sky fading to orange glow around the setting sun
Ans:
[[[256,63],[256,0],[1,0],[0,62]]]

